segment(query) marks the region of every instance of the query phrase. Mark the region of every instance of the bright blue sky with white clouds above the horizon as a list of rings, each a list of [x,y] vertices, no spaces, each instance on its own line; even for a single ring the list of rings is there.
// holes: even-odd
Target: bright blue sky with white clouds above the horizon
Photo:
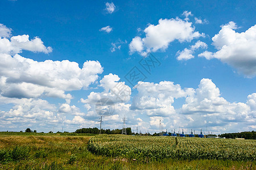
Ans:
[[[0,12],[2,131],[98,127],[102,114],[104,129],[124,114],[142,132],[160,119],[169,131],[256,128],[254,1],[3,0]]]

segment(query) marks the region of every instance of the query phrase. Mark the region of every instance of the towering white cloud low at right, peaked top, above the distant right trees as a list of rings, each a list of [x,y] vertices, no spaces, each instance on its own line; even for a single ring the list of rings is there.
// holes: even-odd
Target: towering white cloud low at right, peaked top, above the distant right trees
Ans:
[[[229,103],[220,96],[220,90],[210,79],[202,79],[195,93],[185,99],[180,113],[186,114],[187,126],[211,127],[228,130],[237,123],[255,124],[254,94],[248,96],[248,104]],[[252,107],[250,108],[250,105]],[[246,126],[246,125],[245,125]],[[238,128],[240,130],[242,127]],[[217,130],[217,129],[216,129]]]

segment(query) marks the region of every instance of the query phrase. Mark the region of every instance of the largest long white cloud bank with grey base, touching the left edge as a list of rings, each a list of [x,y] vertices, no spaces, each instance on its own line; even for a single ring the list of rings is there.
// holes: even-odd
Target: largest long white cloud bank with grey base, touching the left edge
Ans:
[[[98,61],[86,61],[80,69],[70,61],[34,61],[16,54],[0,54],[0,92],[8,97],[51,97],[71,99],[65,91],[80,90],[98,79],[103,69]],[[47,76],[46,76],[47,75]],[[14,93],[15,91],[15,93]]]

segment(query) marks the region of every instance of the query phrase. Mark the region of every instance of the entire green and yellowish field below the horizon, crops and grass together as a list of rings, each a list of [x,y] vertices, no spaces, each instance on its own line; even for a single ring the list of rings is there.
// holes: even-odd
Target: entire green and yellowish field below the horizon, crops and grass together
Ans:
[[[23,133],[24,134],[24,133]],[[201,141],[200,141],[201,140]],[[0,134],[0,169],[255,169],[255,142],[234,139],[142,137],[130,135]],[[218,147],[239,160],[174,158],[175,148]],[[237,150],[238,148],[238,150]],[[209,149],[208,149],[209,150]],[[163,151],[163,153],[162,153]],[[241,156],[242,154],[245,156]],[[171,152],[170,152],[171,153]],[[196,152],[199,153],[199,152]],[[151,155],[151,156],[149,156]],[[192,154],[195,156],[195,154]],[[136,160],[133,160],[136,159]]]

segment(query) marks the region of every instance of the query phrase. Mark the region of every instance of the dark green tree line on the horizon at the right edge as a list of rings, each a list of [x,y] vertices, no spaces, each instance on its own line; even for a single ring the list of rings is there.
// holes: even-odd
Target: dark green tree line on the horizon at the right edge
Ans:
[[[220,135],[221,138],[245,138],[245,139],[256,139],[256,131],[243,131],[240,133],[225,133]]]

